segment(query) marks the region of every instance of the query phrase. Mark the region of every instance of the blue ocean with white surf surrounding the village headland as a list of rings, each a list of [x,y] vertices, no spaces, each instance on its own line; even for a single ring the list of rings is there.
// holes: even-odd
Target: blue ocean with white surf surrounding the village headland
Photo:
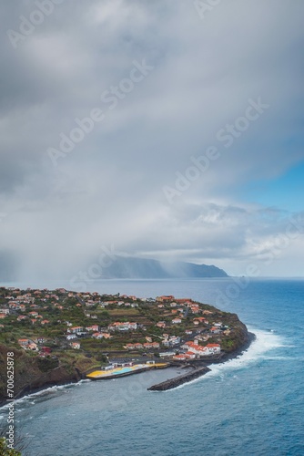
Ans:
[[[304,455],[304,280],[104,280],[88,289],[191,297],[237,313],[257,338],[238,358],[166,392],[147,388],[180,370],[84,380],[16,400],[28,455]],[[4,407],[0,425],[6,417]]]

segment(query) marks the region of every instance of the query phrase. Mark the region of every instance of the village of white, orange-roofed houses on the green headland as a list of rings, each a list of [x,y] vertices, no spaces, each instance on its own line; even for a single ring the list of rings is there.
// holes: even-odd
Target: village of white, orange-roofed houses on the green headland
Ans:
[[[0,322],[0,343],[58,361],[77,351],[88,367],[109,358],[190,361],[234,347],[233,314],[173,295],[2,287]]]

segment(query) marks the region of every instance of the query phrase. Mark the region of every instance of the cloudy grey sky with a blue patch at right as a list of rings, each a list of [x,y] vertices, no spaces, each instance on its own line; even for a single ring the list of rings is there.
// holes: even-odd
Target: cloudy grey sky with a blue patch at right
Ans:
[[[3,0],[3,262],[55,278],[115,248],[303,276],[303,16],[302,0]]]

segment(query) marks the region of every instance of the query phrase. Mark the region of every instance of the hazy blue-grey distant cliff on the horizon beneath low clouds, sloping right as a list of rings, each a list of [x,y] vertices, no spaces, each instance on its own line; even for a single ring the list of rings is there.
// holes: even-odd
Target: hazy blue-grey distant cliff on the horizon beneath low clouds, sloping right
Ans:
[[[103,278],[168,279],[191,277],[228,277],[214,265],[184,262],[160,262],[147,258],[116,256],[112,264],[103,268]]]

